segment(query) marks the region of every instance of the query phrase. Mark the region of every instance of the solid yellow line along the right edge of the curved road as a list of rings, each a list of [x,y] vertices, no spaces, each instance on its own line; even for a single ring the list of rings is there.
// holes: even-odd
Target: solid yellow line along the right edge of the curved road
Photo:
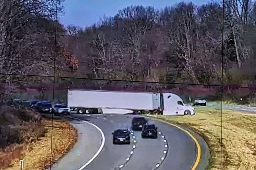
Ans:
[[[180,126],[177,126],[177,125],[175,125],[175,124],[169,123],[169,122],[164,121],[164,120],[159,120],[159,119],[156,119],[156,118],[153,118],[153,119],[158,120],[158,121],[161,121],[161,122],[166,123],[166,124],[169,124],[169,125],[171,125],[171,126],[174,126],[175,128],[178,128],[178,129],[182,130],[183,132],[185,132],[186,134],[188,134],[188,136],[190,136],[190,137],[194,140],[194,142],[195,142],[196,145],[197,145],[197,159],[196,159],[196,162],[194,163],[193,167],[191,168],[191,170],[195,170],[195,169],[197,168],[199,162],[200,162],[200,159],[201,159],[201,146],[200,146],[198,140],[196,139],[196,137],[194,137],[189,131],[187,131],[187,130],[181,128]]]

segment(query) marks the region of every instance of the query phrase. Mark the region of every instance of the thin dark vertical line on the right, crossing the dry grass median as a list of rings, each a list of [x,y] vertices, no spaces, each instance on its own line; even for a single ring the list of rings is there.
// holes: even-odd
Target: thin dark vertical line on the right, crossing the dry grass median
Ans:
[[[222,97],[221,97],[221,113],[220,113],[220,170],[222,170],[222,104],[223,104],[223,63],[224,63],[224,3],[225,3],[225,0],[222,1]]]

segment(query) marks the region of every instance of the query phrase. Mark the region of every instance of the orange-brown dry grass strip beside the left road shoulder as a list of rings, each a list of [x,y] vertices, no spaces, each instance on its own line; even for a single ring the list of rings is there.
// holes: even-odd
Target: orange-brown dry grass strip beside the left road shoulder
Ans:
[[[20,170],[19,159],[23,159],[23,170],[44,170],[50,166],[51,143],[52,163],[55,163],[76,142],[77,132],[67,121],[52,121],[43,119],[44,128],[47,130],[44,137],[23,147],[23,155],[12,162],[12,165],[5,170]],[[52,142],[51,142],[52,140]]]

